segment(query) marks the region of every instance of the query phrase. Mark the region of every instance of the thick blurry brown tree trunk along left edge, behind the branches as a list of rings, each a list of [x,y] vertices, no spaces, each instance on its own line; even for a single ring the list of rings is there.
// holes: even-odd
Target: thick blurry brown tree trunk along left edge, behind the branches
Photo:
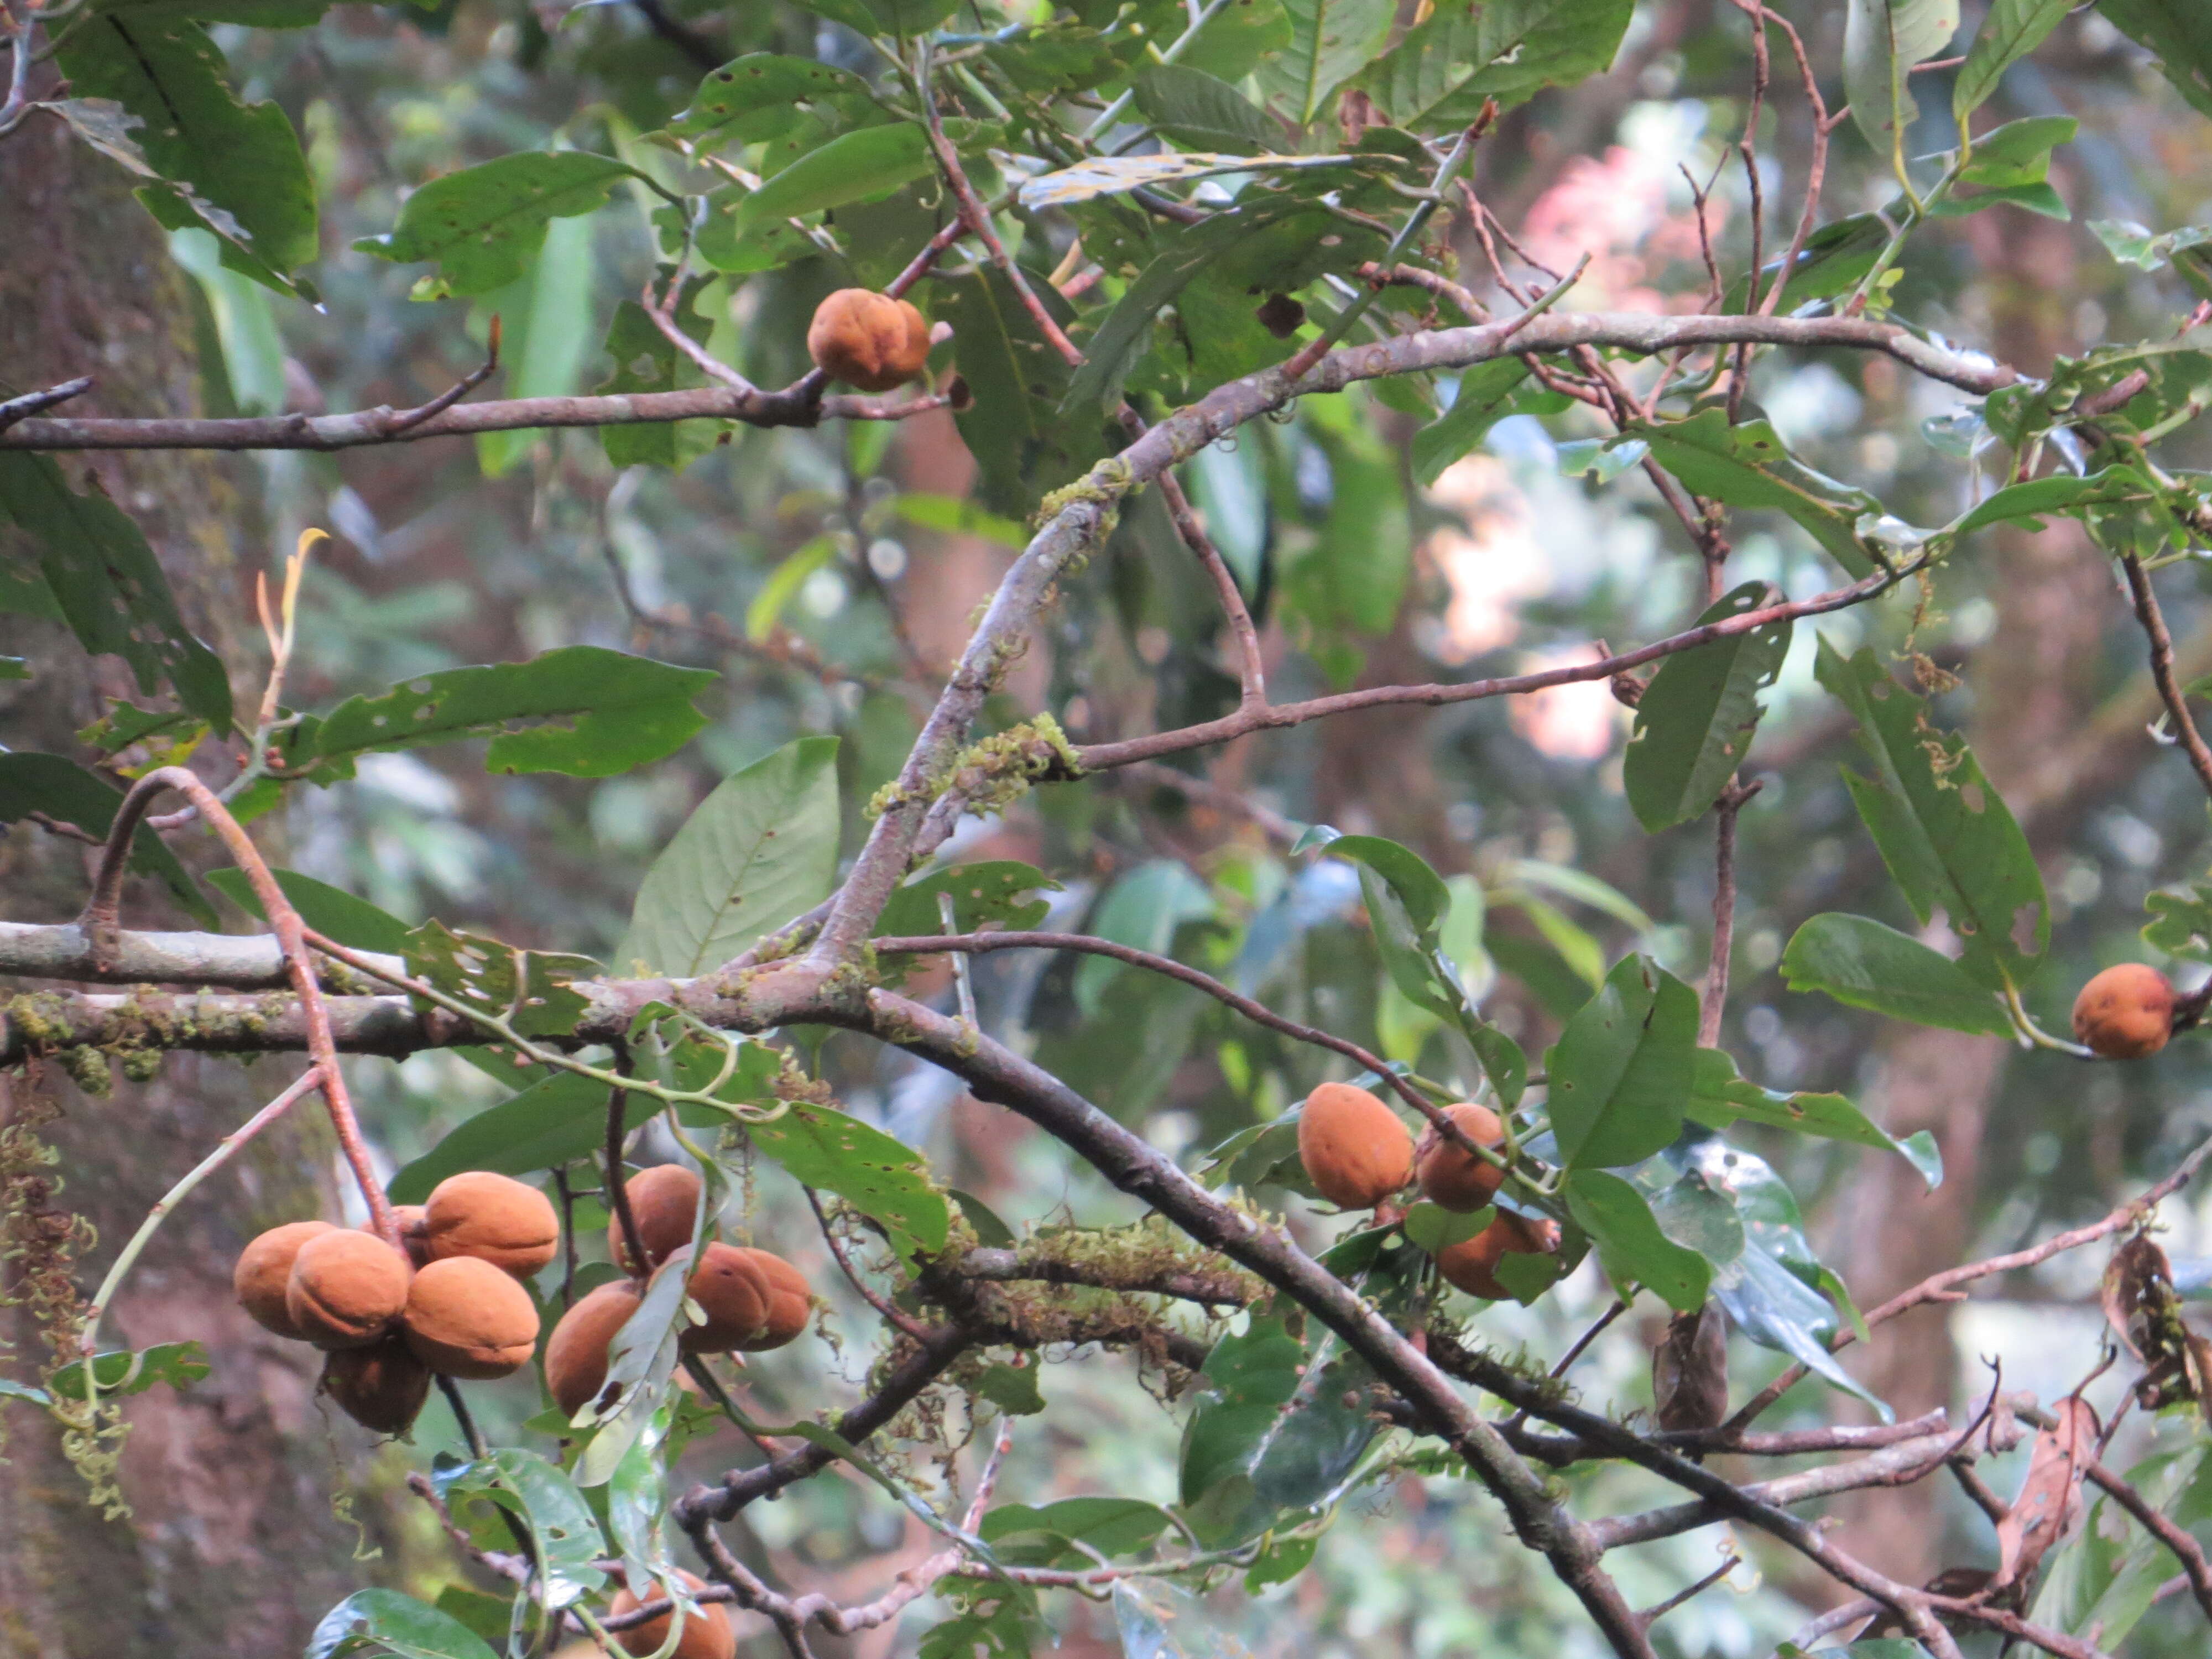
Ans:
[[[0,261],[0,387],[93,374],[97,389],[73,409],[190,411],[188,294],[122,170],[60,122],[33,117],[0,139],[0,201],[18,232]],[[226,465],[190,453],[60,460],[73,487],[97,478],[137,520],[190,624],[243,668],[230,619],[250,613],[230,549],[246,502]],[[115,659],[88,661],[55,624],[7,622],[11,653],[29,655],[35,675],[0,706],[9,743],[82,757],[71,732],[102,712],[104,695],[135,695],[128,675]],[[201,832],[173,841],[188,863],[212,863]],[[84,902],[86,852],[31,825],[0,836],[4,911],[69,918]],[[131,883],[126,905],[131,922],[181,920],[144,880]],[[150,1084],[117,1082],[111,1097],[80,1093],[53,1064],[0,1079],[0,1126],[33,1124],[40,1102],[60,1110],[35,1128],[58,1161],[53,1190],[33,1192],[33,1203],[53,1225],[73,1212],[95,1230],[73,1263],[80,1296],[161,1192],[296,1071],[296,1060],[248,1073],[175,1055]],[[212,1367],[190,1389],[153,1387],[124,1402],[126,1520],[88,1506],[51,1418],[0,1402],[0,1655],[290,1659],[316,1617],[378,1571],[352,1562],[356,1531],[332,1511],[332,1493],[356,1480],[341,1451],[361,1467],[365,1433],[343,1418],[325,1425],[312,1398],[316,1358],[261,1332],[230,1296],[230,1263],[252,1232],[327,1212],[327,1130],[303,1106],[170,1217],[108,1312],[102,1347],[190,1338]],[[0,1374],[22,1383],[49,1363],[24,1298],[29,1265],[0,1263]]]

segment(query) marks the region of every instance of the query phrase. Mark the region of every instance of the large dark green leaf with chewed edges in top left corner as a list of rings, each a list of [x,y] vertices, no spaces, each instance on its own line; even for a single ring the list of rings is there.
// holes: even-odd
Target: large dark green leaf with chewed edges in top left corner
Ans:
[[[184,18],[104,13],[60,33],[55,60],[75,100],[102,97],[139,119],[131,133],[157,184],[137,195],[164,230],[208,230],[223,263],[285,294],[316,257],[314,181],[274,102],[241,104],[206,29]]]

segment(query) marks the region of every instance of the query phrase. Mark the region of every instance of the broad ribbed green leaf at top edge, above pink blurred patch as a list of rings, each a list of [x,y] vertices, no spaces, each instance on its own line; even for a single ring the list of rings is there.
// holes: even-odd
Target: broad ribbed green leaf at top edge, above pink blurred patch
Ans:
[[[1486,97],[1513,108],[1544,86],[1573,86],[1604,73],[1632,13],[1632,0],[1438,7],[1360,75],[1360,86],[1409,131],[1467,126]]]

